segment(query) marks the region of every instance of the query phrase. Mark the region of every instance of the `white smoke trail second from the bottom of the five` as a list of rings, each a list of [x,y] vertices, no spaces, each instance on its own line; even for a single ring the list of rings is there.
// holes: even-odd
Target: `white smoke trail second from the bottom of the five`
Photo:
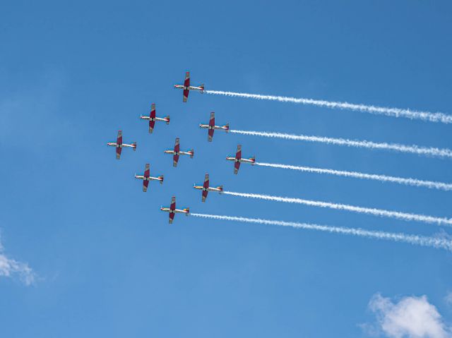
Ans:
[[[396,219],[403,219],[404,221],[417,221],[417,222],[425,222],[425,223],[437,224],[437,225],[444,225],[444,224],[452,225],[452,219],[426,216],[426,215],[409,214],[407,212],[381,210],[381,209],[375,209],[375,208],[370,208],[370,207],[355,207],[354,205],[321,202],[318,200],[303,200],[302,198],[287,198],[287,197],[270,196],[270,195],[259,195],[257,193],[234,193],[232,191],[223,191],[223,193],[225,193],[226,195],[246,197],[246,198],[258,198],[261,200],[274,200],[276,202],[304,204],[304,205],[310,205],[311,207],[328,207],[330,209],[347,210],[347,211],[359,212],[359,213],[367,214],[367,215],[375,215],[375,216],[380,216],[380,217],[391,217],[391,218],[396,218]]]

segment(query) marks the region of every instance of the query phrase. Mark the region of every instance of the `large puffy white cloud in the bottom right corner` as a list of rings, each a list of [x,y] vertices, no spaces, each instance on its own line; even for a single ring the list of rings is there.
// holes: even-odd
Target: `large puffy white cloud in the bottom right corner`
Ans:
[[[375,294],[369,308],[376,315],[376,325],[363,325],[372,334],[384,334],[391,338],[450,338],[447,327],[427,296],[407,296],[399,301]]]

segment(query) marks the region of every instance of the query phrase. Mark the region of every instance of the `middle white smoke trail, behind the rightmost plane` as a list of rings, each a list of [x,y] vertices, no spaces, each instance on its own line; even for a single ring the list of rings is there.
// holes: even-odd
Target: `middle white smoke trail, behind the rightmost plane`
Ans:
[[[316,174],[329,174],[329,175],[337,175],[344,177],[353,177],[355,179],[373,179],[381,182],[392,182],[405,184],[407,186],[418,186],[430,189],[439,189],[444,191],[451,191],[452,184],[451,183],[443,183],[443,182],[435,182],[435,181],[422,181],[419,179],[404,179],[403,177],[395,177],[395,176],[386,176],[386,175],[377,175],[377,174],[364,174],[357,171],[343,171],[343,170],[333,170],[333,169],[321,169],[321,168],[313,168],[313,167],[302,167],[302,166],[292,166],[287,164],[275,164],[275,163],[264,163],[264,162],[256,162],[255,163],[261,167],[272,167],[272,168],[281,168],[281,169],[292,169],[299,170],[305,172],[311,172]]]

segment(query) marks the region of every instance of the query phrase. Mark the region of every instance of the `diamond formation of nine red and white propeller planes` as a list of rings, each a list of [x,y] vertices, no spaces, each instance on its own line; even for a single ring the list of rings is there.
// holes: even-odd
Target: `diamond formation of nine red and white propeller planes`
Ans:
[[[183,90],[182,101],[184,103],[188,101],[189,93],[191,90],[201,92],[201,94],[205,90],[203,84],[198,87],[190,85],[190,72],[188,71],[185,73],[184,85],[174,85],[174,88]],[[149,121],[149,133],[153,133],[155,128],[155,122],[162,121],[169,124],[170,121],[169,116],[165,117],[156,116],[155,103],[151,104],[149,116],[141,115],[140,119]],[[229,123],[225,124],[224,126],[215,125],[215,112],[210,113],[210,119],[208,124],[200,123],[199,127],[208,130],[208,142],[212,142],[213,133],[215,132],[215,130],[225,131],[226,133],[229,131]],[[107,143],[107,145],[116,148],[116,159],[121,159],[121,151],[122,148],[124,147],[131,147],[133,151],[136,151],[136,142],[133,142],[131,144],[123,143],[122,131],[118,131],[116,142],[109,142]],[[180,140],[179,138],[176,138],[174,148],[172,150],[165,150],[165,154],[172,155],[172,165],[173,167],[177,167],[177,163],[179,162],[179,157],[181,155],[188,155],[191,159],[194,158],[194,149],[182,151],[180,149]],[[249,163],[251,165],[254,165],[256,163],[256,157],[250,157],[249,159],[242,157],[242,145],[237,145],[237,152],[234,157],[228,156],[226,157],[226,159],[228,161],[234,162],[234,174],[238,174],[241,163]],[[159,181],[160,184],[162,184],[164,176],[163,175],[157,177],[150,176],[150,164],[146,163],[143,175],[135,175],[135,178],[143,180],[143,192],[146,192],[148,191],[150,181]],[[209,191],[217,193],[222,193],[223,191],[223,186],[217,187],[210,186],[209,174],[206,174],[202,186],[194,185],[194,188],[202,191],[201,200],[203,202],[206,202]],[[176,208],[175,196],[172,197],[171,204],[169,205],[169,207],[160,207],[160,210],[162,210],[163,212],[169,212],[169,224],[172,224],[172,222],[174,221],[174,216],[177,213],[182,213],[186,216],[190,214],[189,207],[186,207],[184,209]]]

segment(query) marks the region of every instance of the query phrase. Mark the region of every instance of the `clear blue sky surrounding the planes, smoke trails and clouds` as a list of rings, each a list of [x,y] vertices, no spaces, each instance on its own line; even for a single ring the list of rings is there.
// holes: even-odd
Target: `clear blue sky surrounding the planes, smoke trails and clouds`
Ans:
[[[177,195],[192,212],[446,236],[214,193],[201,203],[191,187],[208,172],[231,191],[450,217],[450,192],[246,165],[235,176],[225,161],[240,143],[262,162],[451,182],[448,159],[221,132],[208,143],[198,123],[215,111],[237,129],[447,148],[451,126],[198,93],[183,104],[172,85],[189,70],[213,90],[450,113],[451,11],[448,1],[2,4],[0,254],[35,281],[0,277],[0,335],[369,337],[378,294],[426,299],[448,325],[451,253],[182,215],[169,227],[159,209]],[[153,135],[139,119],[151,102],[171,116]],[[105,145],[118,129],[138,143],[120,161]],[[163,150],[176,137],[195,157],[173,168]],[[145,163],[165,175],[148,193],[133,179]]]

